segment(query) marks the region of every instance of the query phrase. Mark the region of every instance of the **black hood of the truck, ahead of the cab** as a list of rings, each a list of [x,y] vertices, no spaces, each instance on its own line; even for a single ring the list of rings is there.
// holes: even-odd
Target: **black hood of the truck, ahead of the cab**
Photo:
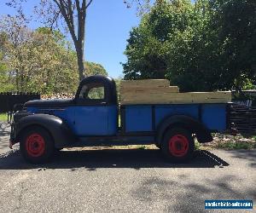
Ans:
[[[55,108],[70,107],[74,105],[73,99],[52,99],[27,101],[24,107]]]

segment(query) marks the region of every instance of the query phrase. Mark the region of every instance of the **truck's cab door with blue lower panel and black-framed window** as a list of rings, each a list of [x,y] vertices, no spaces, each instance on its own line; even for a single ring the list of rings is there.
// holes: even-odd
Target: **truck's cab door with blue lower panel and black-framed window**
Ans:
[[[76,95],[74,130],[78,136],[114,135],[117,131],[116,105],[108,103],[107,85],[89,82]]]

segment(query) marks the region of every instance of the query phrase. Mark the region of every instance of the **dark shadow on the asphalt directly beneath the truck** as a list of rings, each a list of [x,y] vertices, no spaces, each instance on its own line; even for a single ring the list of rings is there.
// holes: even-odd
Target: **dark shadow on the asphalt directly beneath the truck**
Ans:
[[[26,164],[20,151],[10,151],[0,155],[1,170],[26,170],[36,168],[72,169],[85,168],[213,168],[229,164],[218,156],[207,151],[195,152],[195,158],[186,164],[167,163],[160,150],[154,149],[104,149],[86,151],[61,151],[49,164]]]

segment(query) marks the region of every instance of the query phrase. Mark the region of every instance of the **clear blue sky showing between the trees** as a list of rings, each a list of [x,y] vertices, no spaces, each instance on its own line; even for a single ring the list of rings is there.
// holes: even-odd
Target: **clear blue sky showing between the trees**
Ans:
[[[32,5],[38,0],[27,0],[25,13],[32,14]],[[0,15],[15,14],[15,9],[0,1]],[[87,12],[84,57],[87,61],[102,64],[108,75],[118,78],[123,75],[120,62],[125,62],[126,39],[133,26],[137,26],[136,6],[127,9],[123,0],[93,0]],[[30,28],[42,26],[32,21]]]

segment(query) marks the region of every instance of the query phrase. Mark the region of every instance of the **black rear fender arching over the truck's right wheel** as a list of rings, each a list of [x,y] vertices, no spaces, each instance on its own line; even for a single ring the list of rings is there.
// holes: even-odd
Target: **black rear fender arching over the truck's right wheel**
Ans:
[[[183,127],[190,130],[191,133],[196,135],[199,142],[205,143],[212,141],[212,135],[207,128],[195,118],[186,115],[174,115],[164,119],[157,127],[156,143],[160,144],[166,130],[175,127]]]

